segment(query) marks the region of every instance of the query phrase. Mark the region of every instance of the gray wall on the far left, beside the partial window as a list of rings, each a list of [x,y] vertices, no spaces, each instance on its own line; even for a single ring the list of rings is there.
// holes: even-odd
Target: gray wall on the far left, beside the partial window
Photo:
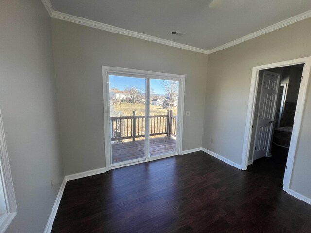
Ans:
[[[43,232],[63,176],[51,19],[40,0],[0,0],[0,104],[17,216],[7,232]]]

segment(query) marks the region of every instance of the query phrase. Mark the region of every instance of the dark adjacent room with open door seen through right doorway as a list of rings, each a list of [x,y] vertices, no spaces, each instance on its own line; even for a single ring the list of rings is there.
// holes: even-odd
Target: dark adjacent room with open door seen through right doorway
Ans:
[[[304,64],[259,71],[249,161],[284,176]],[[272,158],[271,158],[272,157]],[[251,162],[250,162],[251,163]]]

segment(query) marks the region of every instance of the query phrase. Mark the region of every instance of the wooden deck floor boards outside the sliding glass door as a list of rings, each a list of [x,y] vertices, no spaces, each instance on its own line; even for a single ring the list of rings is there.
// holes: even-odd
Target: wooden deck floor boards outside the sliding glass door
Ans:
[[[176,140],[173,137],[150,138],[150,156],[170,153],[176,150]],[[145,140],[135,142],[120,142],[112,144],[112,163],[144,158]]]

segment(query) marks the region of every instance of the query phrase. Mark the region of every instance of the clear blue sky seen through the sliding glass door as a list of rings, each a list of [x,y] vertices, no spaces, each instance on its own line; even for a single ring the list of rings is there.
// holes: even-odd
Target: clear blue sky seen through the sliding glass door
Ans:
[[[150,79],[150,88],[153,89],[154,94],[166,94],[161,86],[162,80]],[[109,75],[110,88],[118,88],[120,91],[128,86],[139,86],[142,88],[142,92],[146,92],[146,80],[142,78],[123,77]]]

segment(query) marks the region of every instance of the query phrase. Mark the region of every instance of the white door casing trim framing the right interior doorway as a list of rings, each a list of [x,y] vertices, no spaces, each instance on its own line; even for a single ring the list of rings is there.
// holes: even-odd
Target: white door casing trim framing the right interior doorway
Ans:
[[[249,93],[249,101],[248,101],[248,110],[246,117],[246,127],[245,127],[245,135],[244,135],[244,145],[242,151],[242,170],[247,169],[249,150],[251,144],[251,134],[252,134],[252,124],[254,119],[254,110],[255,110],[255,102],[256,102],[256,93],[258,89],[258,79],[259,79],[259,71],[264,69],[276,68],[276,67],[285,67],[291,66],[295,64],[304,63],[302,76],[303,79],[300,83],[299,95],[297,100],[296,113],[294,117],[294,127],[291,136],[290,148],[287,157],[287,168],[285,169],[284,180],[283,180],[283,190],[289,190],[290,180],[292,176],[293,166],[294,166],[294,157],[296,152],[296,146],[298,142],[298,135],[301,126],[301,120],[303,116],[303,109],[305,105],[305,99],[307,94],[307,86],[308,80],[310,77],[310,69],[311,69],[311,57],[298,58],[290,61],[277,62],[273,64],[262,65],[258,67],[253,67],[252,77],[251,77],[251,86]]]

